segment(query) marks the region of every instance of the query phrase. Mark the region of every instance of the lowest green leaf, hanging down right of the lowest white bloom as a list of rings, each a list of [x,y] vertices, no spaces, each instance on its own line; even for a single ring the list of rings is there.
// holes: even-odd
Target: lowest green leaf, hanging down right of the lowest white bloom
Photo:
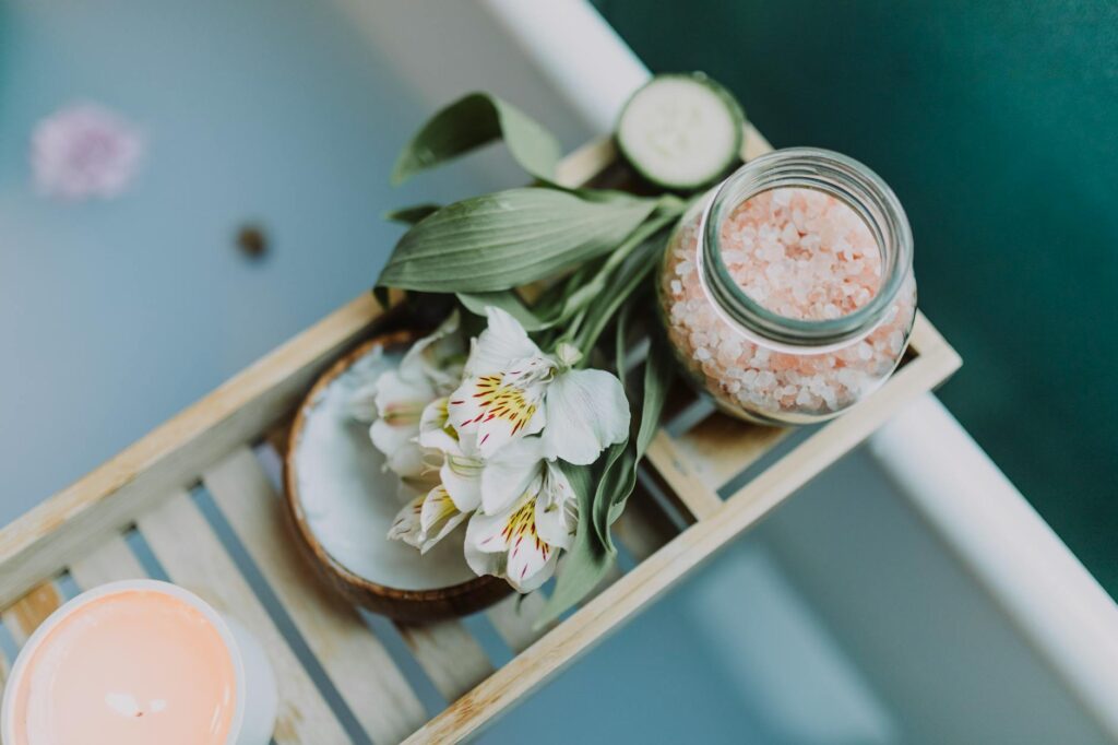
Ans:
[[[578,498],[578,532],[575,544],[563,558],[562,572],[556,579],[555,592],[540,610],[534,626],[540,629],[562,615],[594,590],[609,570],[616,550],[597,539],[590,525],[590,468],[559,462]]]

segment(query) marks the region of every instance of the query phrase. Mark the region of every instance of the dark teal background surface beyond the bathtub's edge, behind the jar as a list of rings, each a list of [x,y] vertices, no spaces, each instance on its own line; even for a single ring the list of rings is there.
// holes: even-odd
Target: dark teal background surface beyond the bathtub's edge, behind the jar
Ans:
[[[908,209],[941,397],[1118,595],[1118,3],[598,0],[776,147],[846,152]]]

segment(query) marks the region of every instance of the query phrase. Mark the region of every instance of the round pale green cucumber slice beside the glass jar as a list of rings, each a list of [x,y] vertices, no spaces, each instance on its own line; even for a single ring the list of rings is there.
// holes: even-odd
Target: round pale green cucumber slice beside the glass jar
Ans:
[[[622,110],[617,147],[648,181],[699,189],[737,162],[745,121],[733,95],[702,73],[657,75]]]

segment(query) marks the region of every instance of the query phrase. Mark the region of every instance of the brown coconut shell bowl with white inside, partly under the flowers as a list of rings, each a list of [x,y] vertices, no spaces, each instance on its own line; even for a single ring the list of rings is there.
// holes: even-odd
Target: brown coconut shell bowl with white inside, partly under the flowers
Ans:
[[[292,424],[284,490],[296,540],[330,584],[376,613],[427,622],[480,611],[510,590],[466,566],[462,528],[424,555],[387,538],[404,506],[399,478],[348,405],[359,386],[396,368],[416,338],[410,330],[378,336],[319,378]]]

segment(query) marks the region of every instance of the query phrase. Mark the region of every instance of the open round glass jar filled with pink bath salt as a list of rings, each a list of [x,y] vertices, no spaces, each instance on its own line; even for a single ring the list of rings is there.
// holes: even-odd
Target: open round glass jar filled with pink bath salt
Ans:
[[[912,233],[865,166],[777,150],[684,215],[657,287],[680,362],[720,408],[760,424],[821,422],[870,395],[904,353]]]

